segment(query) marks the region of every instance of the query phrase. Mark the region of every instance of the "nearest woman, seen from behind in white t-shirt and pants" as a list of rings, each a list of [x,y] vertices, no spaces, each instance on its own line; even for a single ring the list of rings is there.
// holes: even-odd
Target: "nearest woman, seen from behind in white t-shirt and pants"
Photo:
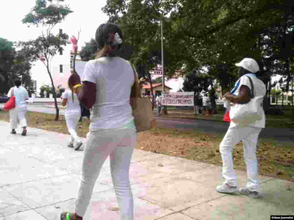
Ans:
[[[75,212],[63,212],[61,220],[83,219],[93,187],[108,156],[121,220],[133,220],[129,168],[138,138],[130,104],[134,72],[130,62],[116,56],[123,43],[123,35],[117,25],[100,25],[96,31],[96,42],[100,52],[95,60],[86,64],[83,84],[77,79],[74,86],[81,103],[88,109],[92,108],[91,124]],[[139,86],[137,80],[135,85]]]

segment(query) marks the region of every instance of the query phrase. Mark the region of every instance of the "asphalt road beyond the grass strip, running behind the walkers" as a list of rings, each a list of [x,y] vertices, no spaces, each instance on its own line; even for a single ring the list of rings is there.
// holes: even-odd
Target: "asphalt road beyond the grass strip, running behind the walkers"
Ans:
[[[4,104],[0,104],[3,108]],[[55,114],[54,108],[44,107],[42,104],[29,104],[29,111]],[[64,115],[64,110],[59,109],[59,114]],[[175,128],[179,130],[200,130],[206,133],[225,133],[229,123],[205,119],[170,119],[157,117],[158,128]],[[277,141],[294,141],[294,129],[287,128],[264,128],[260,133],[261,138],[274,138]]]

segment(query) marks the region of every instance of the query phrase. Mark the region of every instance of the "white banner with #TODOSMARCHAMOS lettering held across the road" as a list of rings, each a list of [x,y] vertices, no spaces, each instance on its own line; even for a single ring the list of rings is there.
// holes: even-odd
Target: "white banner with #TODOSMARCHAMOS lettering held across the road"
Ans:
[[[172,106],[193,106],[194,92],[161,92],[161,104]]]

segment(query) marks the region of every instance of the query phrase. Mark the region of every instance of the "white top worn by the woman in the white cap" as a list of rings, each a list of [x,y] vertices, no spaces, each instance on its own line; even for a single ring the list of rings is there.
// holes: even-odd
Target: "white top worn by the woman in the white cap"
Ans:
[[[252,79],[252,82],[253,82],[254,96],[264,97],[265,94],[266,94],[265,84],[260,79],[258,79],[254,74],[248,74],[248,76]],[[240,78],[239,87],[235,91],[234,95],[239,94],[241,85],[247,86],[250,89],[250,92],[251,92],[250,79],[248,79],[248,77],[246,75],[244,75],[244,76],[242,76]],[[234,104],[233,106],[231,106],[231,108],[234,108],[237,105],[239,105],[239,104]],[[247,104],[244,104],[244,105],[247,105]],[[260,108],[262,108],[262,107],[260,107]],[[262,116],[261,120],[258,120],[255,123],[249,124],[249,126],[257,127],[257,128],[265,128],[265,114],[264,114],[263,109],[262,109],[262,114],[263,114],[263,116]],[[238,126],[238,125],[240,125],[240,124],[237,124],[237,123],[234,123],[234,122],[231,121],[230,128]]]

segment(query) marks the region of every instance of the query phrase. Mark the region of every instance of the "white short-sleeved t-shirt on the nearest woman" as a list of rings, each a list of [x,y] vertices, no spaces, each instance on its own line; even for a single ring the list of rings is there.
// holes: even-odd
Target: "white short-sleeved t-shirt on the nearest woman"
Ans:
[[[121,57],[101,57],[85,66],[82,81],[96,84],[90,131],[120,128],[133,121],[130,105],[133,68]]]

